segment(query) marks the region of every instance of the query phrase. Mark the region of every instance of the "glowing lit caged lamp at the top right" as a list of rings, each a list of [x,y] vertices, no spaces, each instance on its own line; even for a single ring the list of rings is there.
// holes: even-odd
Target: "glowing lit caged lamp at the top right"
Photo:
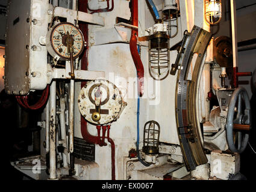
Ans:
[[[204,0],[204,18],[210,25],[220,22],[222,17],[221,0]]]

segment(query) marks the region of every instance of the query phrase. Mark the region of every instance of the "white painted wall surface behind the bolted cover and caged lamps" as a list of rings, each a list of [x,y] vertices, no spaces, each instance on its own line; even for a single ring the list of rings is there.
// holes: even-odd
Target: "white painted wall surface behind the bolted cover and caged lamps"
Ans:
[[[117,16],[130,19],[131,13],[128,6],[129,1],[115,0],[114,3],[114,11],[111,11],[110,13],[96,13],[105,17],[105,26],[99,27],[90,25],[89,37],[92,32],[114,28]],[[142,10],[142,12],[139,11],[139,25],[141,25],[139,26],[139,34],[143,35],[143,29],[154,25],[154,19],[149,12],[148,6],[145,4],[145,1],[139,1],[139,7],[140,10]],[[183,34],[183,31],[180,29],[180,34],[170,43],[171,46],[182,40],[181,34]],[[141,51],[145,77],[147,78],[150,77],[148,72],[148,47],[142,46]],[[175,59],[176,52],[172,52],[172,61],[170,64],[174,63]],[[105,71],[105,78],[113,82],[118,88],[128,88],[130,85],[137,84],[136,67],[134,66],[130,45],[128,43],[112,43],[90,47],[88,70]],[[111,80],[111,76],[113,75],[115,79]],[[124,86],[119,85],[117,77],[124,78],[128,83]],[[161,126],[161,142],[180,144],[175,120],[176,76],[169,75],[166,79],[158,83],[160,83],[160,100],[159,103],[157,102],[157,105],[152,105],[148,89],[145,91],[145,96],[140,99],[140,143],[143,143],[143,127],[145,123],[149,120],[155,120],[158,121]],[[146,85],[147,84],[145,83],[145,86]],[[75,92],[78,92],[79,89],[79,87],[76,87]],[[135,90],[137,89],[135,88]],[[131,90],[129,89],[128,91],[128,94],[131,94]],[[135,93],[136,91],[134,91],[134,94]],[[137,97],[126,97],[125,101],[128,104],[125,107],[125,110],[123,110],[120,119],[118,119],[117,122],[113,122],[110,131],[110,137],[114,139],[114,142],[116,143],[116,179],[122,179],[122,159],[123,157],[128,156],[128,152],[131,148],[136,148],[135,142],[137,140]],[[75,106],[75,137],[82,137],[80,127],[80,112]],[[95,125],[88,125],[88,129],[91,134],[97,134]],[[142,148],[142,146],[140,146],[140,148]],[[104,173],[100,175],[100,179],[111,179],[110,145],[104,147],[96,145],[95,154],[95,161],[99,164],[99,172]]]

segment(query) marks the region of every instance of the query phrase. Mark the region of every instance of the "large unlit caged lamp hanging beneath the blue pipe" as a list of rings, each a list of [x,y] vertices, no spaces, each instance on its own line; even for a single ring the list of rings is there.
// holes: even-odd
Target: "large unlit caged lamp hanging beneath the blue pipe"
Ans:
[[[154,80],[163,80],[170,70],[169,36],[158,31],[149,37],[149,73]]]

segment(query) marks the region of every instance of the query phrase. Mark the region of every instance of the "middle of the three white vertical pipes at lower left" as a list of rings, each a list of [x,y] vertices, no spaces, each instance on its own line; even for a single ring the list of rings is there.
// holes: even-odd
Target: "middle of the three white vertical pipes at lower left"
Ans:
[[[63,140],[63,147],[67,148],[67,140],[66,140],[66,122],[65,122],[65,98],[60,98],[60,139]],[[62,153],[63,158],[63,167],[68,168],[67,164],[67,156]]]

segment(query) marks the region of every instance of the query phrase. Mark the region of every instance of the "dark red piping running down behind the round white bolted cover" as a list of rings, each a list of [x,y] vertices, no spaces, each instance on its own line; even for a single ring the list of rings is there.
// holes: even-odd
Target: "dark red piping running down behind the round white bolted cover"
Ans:
[[[78,10],[87,13],[87,4],[88,4],[87,0],[86,1],[79,0]],[[113,10],[113,8],[114,8],[114,1],[113,1],[113,6],[111,9]],[[86,44],[88,45],[88,39],[89,39],[88,24],[80,22],[79,27],[80,27],[81,31],[83,32],[84,41],[86,41]],[[89,47],[86,46],[86,49],[84,50],[84,54],[81,59],[81,70],[87,70],[87,68],[88,68],[88,57],[87,57],[88,50],[89,50]],[[81,82],[81,88],[83,88],[84,85],[86,85],[86,82]],[[82,115],[81,115],[81,134],[82,134],[84,140],[86,140],[87,142],[93,143],[95,145],[99,144],[99,137],[93,136],[92,134],[89,133],[89,131],[87,129],[86,119],[84,119],[84,117]],[[116,167],[115,167],[115,158],[114,158],[115,148],[114,148],[113,140],[109,137],[109,131],[108,131],[107,139],[108,139],[108,142],[111,143],[111,177],[112,177],[112,180],[116,180],[116,175],[115,175]]]

